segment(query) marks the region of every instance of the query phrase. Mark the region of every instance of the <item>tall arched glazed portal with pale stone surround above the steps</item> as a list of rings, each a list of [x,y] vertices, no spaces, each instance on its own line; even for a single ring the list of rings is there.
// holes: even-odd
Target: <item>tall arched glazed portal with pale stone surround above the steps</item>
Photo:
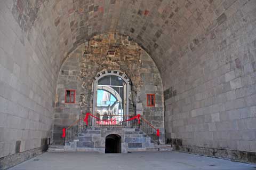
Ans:
[[[107,114],[104,120],[123,121],[129,110],[129,78],[123,72],[105,70],[97,74],[93,87],[93,112]]]

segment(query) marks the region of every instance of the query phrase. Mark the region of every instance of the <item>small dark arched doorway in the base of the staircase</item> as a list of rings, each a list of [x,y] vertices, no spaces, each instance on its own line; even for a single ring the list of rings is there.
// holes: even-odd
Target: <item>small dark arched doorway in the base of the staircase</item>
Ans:
[[[121,153],[121,136],[110,134],[106,137],[105,153]]]

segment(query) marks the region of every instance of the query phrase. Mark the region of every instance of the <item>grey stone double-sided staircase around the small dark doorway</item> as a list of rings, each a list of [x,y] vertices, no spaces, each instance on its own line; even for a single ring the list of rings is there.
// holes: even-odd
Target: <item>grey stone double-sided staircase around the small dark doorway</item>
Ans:
[[[121,136],[122,153],[136,151],[171,151],[171,145],[157,145],[155,141],[139,128],[90,127],[83,129],[77,139],[65,143],[65,146],[50,146],[50,152],[86,151],[105,153],[106,136]]]

